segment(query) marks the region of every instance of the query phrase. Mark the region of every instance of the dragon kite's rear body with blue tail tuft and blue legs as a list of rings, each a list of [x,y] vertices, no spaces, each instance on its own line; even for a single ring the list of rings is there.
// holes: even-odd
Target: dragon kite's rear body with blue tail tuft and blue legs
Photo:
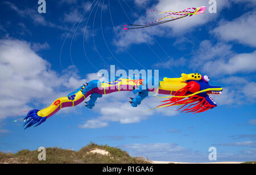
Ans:
[[[82,103],[88,96],[90,96],[89,101],[85,102],[85,106],[92,109],[98,98],[102,95],[118,92],[118,91],[133,91],[133,93],[138,93],[135,98],[130,98],[131,106],[138,106],[141,101],[148,96],[147,89],[135,89],[135,87],[142,86],[142,79],[119,79],[115,78],[112,82],[100,82],[100,80],[92,80],[89,83],[83,84],[83,86],[77,88],[68,96],[56,99],[50,106],[45,109],[38,110],[33,109],[27,113],[24,118],[25,129],[31,126],[38,126],[45,122],[49,117],[57,113],[61,108],[66,108],[69,106],[76,106]]]

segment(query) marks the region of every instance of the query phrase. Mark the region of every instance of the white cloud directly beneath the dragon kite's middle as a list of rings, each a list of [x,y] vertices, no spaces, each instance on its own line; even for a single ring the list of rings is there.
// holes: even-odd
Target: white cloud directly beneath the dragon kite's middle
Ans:
[[[129,97],[134,97],[133,93],[115,92],[109,95],[104,95],[97,100],[93,109],[98,113],[98,117],[89,119],[81,126],[88,127],[93,121],[96,123],[94,128],[98,128],[97,123],[99,127],[107,126],[102,125],[101,122],[137,123],[151,116],[156,117],[157,114],[162,114],[163,116],[175,116],[178,113],[175,111],[176,107],[174,106],[165,109],[159,108],[150,110],[160,104],[160,100],[154,96],[147,97],[142,101],[141,105],[134,108],[129,103]]]

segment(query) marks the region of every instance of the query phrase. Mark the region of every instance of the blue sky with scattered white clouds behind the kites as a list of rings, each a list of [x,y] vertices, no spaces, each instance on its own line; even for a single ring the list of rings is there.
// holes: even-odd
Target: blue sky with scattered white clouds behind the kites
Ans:
[[[158,14],[146,10],[183,10],[207,0],[1,1],[0,15],[0,151],[38,147],[79,150],[92,142],[119,147],[151,160],[209,162],[256,158],[256,3],[217,1],[216,14],[205,14],[138,30]],[[80,18],[82,17],[82,18]],[[42,125],[23,130],[30,109],[43,109],[95,79],[100,69],[158,69],[164,77],[199,72],[210,85],[218,107],[199,114],[176,108],[151,110],[148,97],[138,108],[129,92],[113,93],[92,110],[82,104],[65,108]],[[14,122],[17,121],[17,122]]]

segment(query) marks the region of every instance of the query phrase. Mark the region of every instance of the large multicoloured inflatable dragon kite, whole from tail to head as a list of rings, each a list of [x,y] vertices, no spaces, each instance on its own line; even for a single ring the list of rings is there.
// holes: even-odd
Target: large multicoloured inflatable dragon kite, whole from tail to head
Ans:
[[[222,91],[221,87],[210,86],[209,80],[207,75],[201,76],[199,73],[181,74],[180,78],[164,78],[157,81],[159,84],[153,88],[147,85],[150,80],[146,79],[115,78],[112,82],[92,80],[89,83],[83,84],[74,92],[69,93],[68,96],[56,99],[45,109],[30,110],[24,118],[24,126],[26,126],[25,129],[33,125],[38,126],[61,108],[76,106],[82,103],[88,96],[90,99],[85,102],[85,106],[92,109],[96,100],[102,97],[102,95],[119,91],[138,93],[137,97],[130,97],[131,101],[129,102],[133,107],[140,105],[149,93],[159,93],[168,96],[158,98],[167,98],[168,100],[162,101],[164,104],[158,105],[156,108],[181,105],[178,110],[182,109],[182,112],[205,112],[217,106],[209,95],[219,95]],[[142,88],[145,86],[146,88]]]

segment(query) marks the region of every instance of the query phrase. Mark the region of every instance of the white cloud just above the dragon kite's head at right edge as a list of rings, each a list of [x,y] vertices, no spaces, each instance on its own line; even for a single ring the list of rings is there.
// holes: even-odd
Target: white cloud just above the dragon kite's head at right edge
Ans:
[[[204,52],[189,59],[193,70],[200,69],[209,76],[256,71],[256,50],[251,53],[234,53],[231,45],[222,42],[212,45],[209,40],[201,42],[200,50]]]

